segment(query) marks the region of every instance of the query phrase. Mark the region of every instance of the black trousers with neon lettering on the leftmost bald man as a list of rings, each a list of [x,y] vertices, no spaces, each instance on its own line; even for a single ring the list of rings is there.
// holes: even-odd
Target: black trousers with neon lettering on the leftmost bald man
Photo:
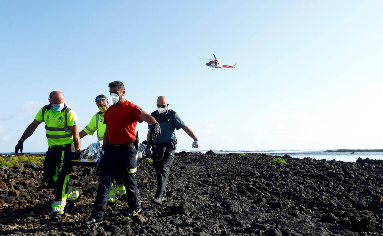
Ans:
[[[44,160],[44,180],[50,187],[56,187],[52,212],[64,213],[67,199],[69,174],[72,166],[65,163],[73,160],[71,145],[48,148]],[[77,197],[75,197],[77,198]]]

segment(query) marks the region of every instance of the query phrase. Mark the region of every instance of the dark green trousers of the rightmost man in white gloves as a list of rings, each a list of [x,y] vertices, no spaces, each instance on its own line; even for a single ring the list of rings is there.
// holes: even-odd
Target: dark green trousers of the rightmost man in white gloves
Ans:
[[[153,153],[154,152],[155,150],[153,150]],[[166,196],[166,184],[169,178],[170,166],[172,166],[174,160],[174,153],[175,148],[166,148],[164,158],[159,161],[157,161],[157,159],[161,158],[155,157],[153,155],[154,169],[155,173],[157,174],[157,191],[155,192],[155,197]]]

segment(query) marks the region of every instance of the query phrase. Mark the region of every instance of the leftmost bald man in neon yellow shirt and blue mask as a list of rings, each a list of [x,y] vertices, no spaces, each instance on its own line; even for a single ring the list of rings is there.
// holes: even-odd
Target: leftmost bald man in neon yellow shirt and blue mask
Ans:
[[[44,160],[44,181],[56,188],[52,203],[51,221],[60,221],[64,210],[73,210],[80,192],[68,186],[72,166],[65,163],[80,156],[80,137],[77,128],[77,115],[64,103],[64,94],[53,91],[49,94],[49,104],[43,106],[33,122],[26,128],[15,146],[15,153],[23,152],[23,143],[31,136],[41,122],[45,122],[48,150]],[[67,201],[69,201],[67,203]]]

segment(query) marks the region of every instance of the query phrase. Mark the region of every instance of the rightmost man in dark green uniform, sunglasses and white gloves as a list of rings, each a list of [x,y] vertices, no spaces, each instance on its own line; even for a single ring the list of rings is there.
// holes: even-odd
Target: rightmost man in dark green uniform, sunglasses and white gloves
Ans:
[[[150,147],[153,151],[153,164],[157,174],[157,190],[152,202],[161,204],[166,197],[166,183],[169,177],[170,166],[174,160],[175,149],[177,148],[177,139],[175,129],[183,129],[194,142],[192,148],[198,148],[200,142],[193,131],[185,125],[178,116],[177,112],[168,108],[169,103],[165,96],[157,98],[157,111],[152,112],[151,116],[157,120],[161,127],[161,135],[155,137],[152,134],[152,127],[149,125],[147,132],[147,155],[150,154]]]

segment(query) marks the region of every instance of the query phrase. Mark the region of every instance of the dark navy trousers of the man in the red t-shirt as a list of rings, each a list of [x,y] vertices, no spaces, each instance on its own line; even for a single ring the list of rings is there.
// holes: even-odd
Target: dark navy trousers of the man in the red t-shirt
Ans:
[[[104,217],[111,189],[110,185],[115,178],[115,173],[118,173],[126,187],[129,209],[137,210],[141,208],[137,182],[134,179],[134,173],[137,170],[136,153],[137,150],[130,146],[108,145],[105,148],[105,153],[100,160],[97,196],[90,218],[102,219]]]

